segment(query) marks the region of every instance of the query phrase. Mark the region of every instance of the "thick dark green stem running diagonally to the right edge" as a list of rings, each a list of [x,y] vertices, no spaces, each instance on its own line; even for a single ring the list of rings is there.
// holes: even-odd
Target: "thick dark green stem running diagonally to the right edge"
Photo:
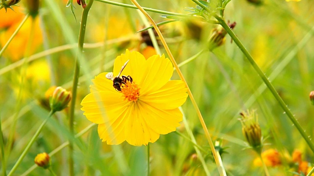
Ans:
[[[240,48],[240,50],[242,51],[242,53],[246,56],[246,58],[248,59],[248,61],[251,63],[251,65],[253,66],[253,68],[255,69],[255,71],[259,74],[259,76],[262,78],[263,82],[265,83],[265,85],[268,87],[268,89],[270,90],[270,92],[273,94],[273,96],[275,97],[275,99],[278,101],[279,105],[282,107],[282,109],[286,112],[286,114],[288,115],[288,118],[292,121],[292,123],[294,124],[294,126],[297,128],[297,130],[300,132],[300,134],[302,135],[302,137],[305,139],[305,141],[307,142],[307,144],[309,145],[309,147],[311,148],[312,152],[314,153],[314,145],[313,143],[310,141],[308,135],[304,132],[304,130],[302,129],[301,125],[299,124],[299,122],[295,119],[295,117],[293,116],[293,114],[291,113],[291,111],[288,109],[288,106],[286,105],[286,103],[283,101],[283,99],[279,96],[279,94],[277,93],[276,89],[274,88],[274,86],[269,82],[268,78],[265,76],[265,74],[262,72],[261,68],[255,63],[254,59],[252,58],[252,56],[250,55],[250,53],[246,50],[246,48],[244,47],[244,45],[240,42],[240,40],[236,37],[235,33],[230,29],[230,27],[228,26],[228,24],[219,16],[214,15],[214,17],[220,22],[220,24],[222,25],[222,27],[227,31],[227,33],[230,35],[230,37],[233,39],[233,41],[235,42],[235,44]]]

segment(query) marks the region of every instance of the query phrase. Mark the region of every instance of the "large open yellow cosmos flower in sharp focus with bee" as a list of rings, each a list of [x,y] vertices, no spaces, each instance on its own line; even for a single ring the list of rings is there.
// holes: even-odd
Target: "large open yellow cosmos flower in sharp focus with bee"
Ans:
[[[113,88],[113,81],[101,73],[90,86],[91,93],[81,102],[87,119],[98,124],[98,134],[103,142],[121,144],[125,140],[134,146],[147,145],[179,127],[187,93],[183,81],[170,80],[173,67],[162,55],[147,60],[139,52],[126,51],[118,56],[113,66],[113,76],[130,76],[131,81]]]

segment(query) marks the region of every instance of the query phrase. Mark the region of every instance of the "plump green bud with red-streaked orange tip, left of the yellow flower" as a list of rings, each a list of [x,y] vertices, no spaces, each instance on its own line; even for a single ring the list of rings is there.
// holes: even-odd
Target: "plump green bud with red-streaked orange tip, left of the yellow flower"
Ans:
[[[52,111],[60,111],[68,106],[72,98],[71,92],[64,88],[57,87],[50,97],[50,108]]]

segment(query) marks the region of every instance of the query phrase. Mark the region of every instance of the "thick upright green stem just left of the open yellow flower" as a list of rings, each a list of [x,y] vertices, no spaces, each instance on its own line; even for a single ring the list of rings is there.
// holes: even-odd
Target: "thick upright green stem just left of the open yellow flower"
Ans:
[[[86,29],[86,22],[88,17],[89,9],[91,8],[94,0],[89,0],[86,7],[82,13],[82,19],[80,22],[79,28],[79,35],[78,35],[78,53],[75,59],[75,69],[74,69],[74,76],[73,76],[73,86],[72,86],[72,101],[70,107],[70,115],[69,115],[69,129],[72,134],[74,134],[74,110],[75,110],[75,103],[77,97],[77,88],[78,88],[78,77],[79,77],[79,58],[81,58],[82,51],[83,51],[83,44],[84,44],[84,37],[85,37],[85,29]],[[73,161],[73,141],[70,140],[69,145],[69,174],[70,176],[74,176],[74,161]]]

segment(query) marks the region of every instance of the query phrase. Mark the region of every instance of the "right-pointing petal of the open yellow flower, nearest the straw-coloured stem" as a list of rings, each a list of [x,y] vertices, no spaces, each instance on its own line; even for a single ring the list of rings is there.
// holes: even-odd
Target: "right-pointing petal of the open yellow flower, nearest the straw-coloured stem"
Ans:
[[[172,80],[155,92],[141,96],[139,101],[157,109],[172,110],[183,105],[187,97],[186,90],[183,81]]]

